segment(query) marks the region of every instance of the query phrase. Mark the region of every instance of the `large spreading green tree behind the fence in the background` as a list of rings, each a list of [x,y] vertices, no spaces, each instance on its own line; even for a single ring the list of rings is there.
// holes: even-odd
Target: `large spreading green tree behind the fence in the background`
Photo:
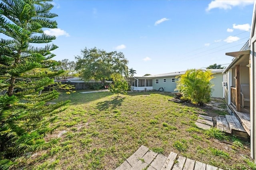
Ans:
[[[76,70],[84,80],[100,80],[102,84],[118,73],[128,76],[128,60],[121,52],[106,52],[96,47],[85,48],[81,51],[82,56],[76,56]]]

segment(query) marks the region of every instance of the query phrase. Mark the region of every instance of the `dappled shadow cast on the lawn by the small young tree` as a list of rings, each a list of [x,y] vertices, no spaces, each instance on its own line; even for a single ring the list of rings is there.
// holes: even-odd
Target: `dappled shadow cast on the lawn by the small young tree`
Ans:
[[[115,109],[116,107],[122,105],[122,102],[124,101],[124,99],[125,97],[114,98],[113,100],[110,100],[110,101],[98,102],[96,108],[100,111],[106,110],[106,109]]]

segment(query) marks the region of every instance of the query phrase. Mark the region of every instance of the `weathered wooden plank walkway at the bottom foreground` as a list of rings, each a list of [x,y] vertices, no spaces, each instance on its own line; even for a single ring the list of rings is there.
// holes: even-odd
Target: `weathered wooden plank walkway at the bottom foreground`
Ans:
[[[222,170],[215,166],[178,156],[171,152],[168,157],[153,152],[142,145],[116,170]]]

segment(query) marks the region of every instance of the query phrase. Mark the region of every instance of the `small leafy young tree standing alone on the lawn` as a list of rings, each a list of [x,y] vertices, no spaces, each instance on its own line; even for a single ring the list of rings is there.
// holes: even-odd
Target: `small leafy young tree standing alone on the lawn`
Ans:
[[[119,93],[126,94],[126,90],[128,90],[128,83],[124,79],[124,77],[118,73],[112,74],[111,77],[113,80],[113,84],[110,84],[110,92],[117,94],[117,97],[119,96]]]

